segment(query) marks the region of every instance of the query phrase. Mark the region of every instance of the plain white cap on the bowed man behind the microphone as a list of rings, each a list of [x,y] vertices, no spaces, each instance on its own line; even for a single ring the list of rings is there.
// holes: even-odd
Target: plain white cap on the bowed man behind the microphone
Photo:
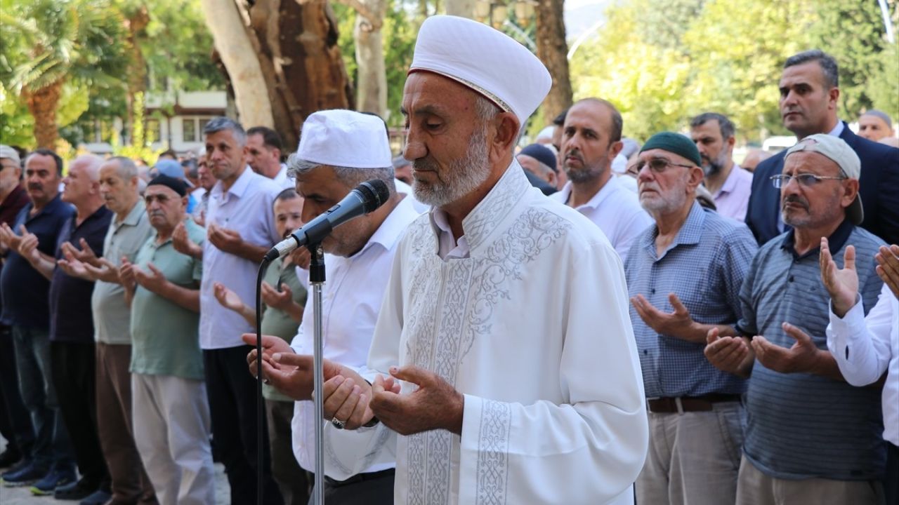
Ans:
[[[299,134],[297,156],[329,166],[393,166],[384,121],[378,116],[343,109],[318,111],[306,118]]]

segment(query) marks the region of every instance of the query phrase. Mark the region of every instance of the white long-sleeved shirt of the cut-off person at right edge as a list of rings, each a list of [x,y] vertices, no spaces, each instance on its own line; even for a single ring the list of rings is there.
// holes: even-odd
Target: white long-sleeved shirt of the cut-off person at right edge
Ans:
[[[899,301],[886,284],[868,317],[861,297],[842,318],[833,314],[831,306],[827,349],[851,385],[877,382],[886,371],[884,439],[899,446]]]

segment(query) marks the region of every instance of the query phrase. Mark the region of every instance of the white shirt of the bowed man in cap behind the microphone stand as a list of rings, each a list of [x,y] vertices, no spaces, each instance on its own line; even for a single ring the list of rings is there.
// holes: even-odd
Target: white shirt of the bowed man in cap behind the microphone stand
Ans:
[[[325,359],[347,367],[360,368],[369,358],[371,336],[375,332],[384,289],[390,278],[396,246],[418,212],[413,200],[402,199],[390,212],[369,242],[349,258],[325,254],[327,280],[322,296],[322,336]],[[303,310],[303,323],[290,346],[298,354],[314,353],[313,306],[310,296]],[[293,453],[300,466],[316,469],[315,405],[294,403],[291,422]],[[394,462],[370,465],[362,473],[393,468]],[[343,480],[343,479],[342,479]]]

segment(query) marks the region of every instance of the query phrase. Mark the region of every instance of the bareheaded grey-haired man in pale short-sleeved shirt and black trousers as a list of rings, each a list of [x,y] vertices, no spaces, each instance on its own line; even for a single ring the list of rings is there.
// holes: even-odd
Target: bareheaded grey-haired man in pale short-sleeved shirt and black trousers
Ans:
[[[253,328],[241,315],[221,306],[213,285],[220,282],[245,300],[254,299],[258,265],[280,241],[271,212],[280,187],[245,164],[246,134],[234,120],[215,118],[203,129],[206,157],[218,179],[209,191],[207,240],[192,242],[184,224],[175,227],[176,251],[203,261],[200,283],[200,348],[209,395],[212,436],[231,486],[231,503],[256,500],[256,433],[263,430],[263,482],[266,504],[281,502],[271,479],[266,427],[256,422],[256,384],[246,375],[249,351],[240,336]]]

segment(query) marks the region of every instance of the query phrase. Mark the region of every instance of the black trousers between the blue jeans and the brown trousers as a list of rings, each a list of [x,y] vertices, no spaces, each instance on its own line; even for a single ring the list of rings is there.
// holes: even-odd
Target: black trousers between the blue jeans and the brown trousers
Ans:
[[[109,471],[97,432],[96,358],[93,341],[50,341],[50,369],[59,411],[66,424],[82,479],[92,486],[109,483]]]

